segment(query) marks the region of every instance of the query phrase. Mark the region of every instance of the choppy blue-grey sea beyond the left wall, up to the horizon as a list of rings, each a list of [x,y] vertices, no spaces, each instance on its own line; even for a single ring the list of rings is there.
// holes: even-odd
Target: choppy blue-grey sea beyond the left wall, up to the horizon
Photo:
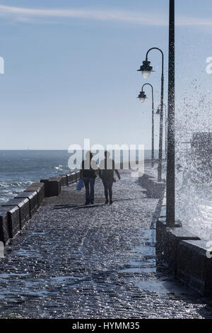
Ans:
[[[0,204],[34,181],[69,173],[70,156],[66,150],[0,150]],[[145,158],[151,158],[151,150]]]

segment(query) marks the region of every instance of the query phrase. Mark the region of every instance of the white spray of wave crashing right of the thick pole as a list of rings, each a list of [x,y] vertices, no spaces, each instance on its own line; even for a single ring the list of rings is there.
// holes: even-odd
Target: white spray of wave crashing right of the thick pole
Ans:
[[[196,80],[192,86],[195,98],[184,98],[177,109],[176,213],[184,227],[201,239],[211,239],[211,91],[201,94]]]

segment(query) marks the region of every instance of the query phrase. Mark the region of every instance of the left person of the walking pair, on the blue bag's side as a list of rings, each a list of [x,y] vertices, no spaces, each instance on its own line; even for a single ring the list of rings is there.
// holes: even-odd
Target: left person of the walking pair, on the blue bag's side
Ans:
[[[93,205],[94,203],[94,185],[98,172],[98,166],[92,158],[92,152],[87,152],[86,159],[82,162],[80,172],[80,177],[83,179],[86,188],[86,205]]]

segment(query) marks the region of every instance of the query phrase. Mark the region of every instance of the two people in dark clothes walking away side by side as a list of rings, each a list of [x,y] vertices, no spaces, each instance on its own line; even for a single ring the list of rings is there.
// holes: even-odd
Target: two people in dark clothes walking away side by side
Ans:
[[[82,162],[81,178],[86,188],[86,205],[93,205],[94,203],[94,186],[95,179],[99,174],[102,179],[102,184],[105,190],[105,204],[112,205],[112,185],[114,183],[114,171],[119,179],[119,171],[114,169],[114,160],[110,159],[110,152],[105,152],[105,159],[100,162],[98,168],[96,162],[93,160],[92,152],[87,152],[86,160]]]

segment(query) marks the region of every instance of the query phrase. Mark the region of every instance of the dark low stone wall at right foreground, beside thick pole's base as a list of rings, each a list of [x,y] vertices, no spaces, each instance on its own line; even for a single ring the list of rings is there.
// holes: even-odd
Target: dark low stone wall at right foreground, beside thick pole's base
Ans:
[[[175,227],[167,227],[165,211],[163,205],[156,225],[157,259],[163,259],[179,280],[211,297],[212,258],[206,255],[208,242],[193,235],[179,221]]]

